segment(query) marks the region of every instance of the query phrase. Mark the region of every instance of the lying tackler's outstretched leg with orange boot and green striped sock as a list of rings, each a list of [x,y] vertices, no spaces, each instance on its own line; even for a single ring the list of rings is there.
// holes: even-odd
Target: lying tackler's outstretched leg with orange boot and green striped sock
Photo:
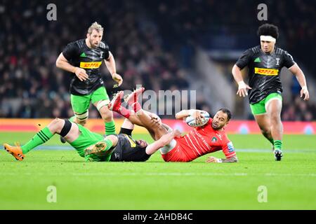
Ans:
[[[67,127],[65,127],[65,123],[67,123]],[[49,125],[44,127],[44,129],[37,132],[37,134],[34,135],[34,137],[27,142],[27,144],[23,146],[9,146],[8,144],[4,144],[4,148],[8,153],[11,153],[17,160],[23,160],[25,158],[25,154],[31,151],[33,148],[44,144],[46,141],[51,139],[54,134],[60,134],[62,137],[66,137],[66,134],[68,133],[67,130],[70,130],[71,128],[75,129],[76,125],[72,125],[70,121],[65,121],[62,119],[54,119],[51,121]],[[74,134],[66,137],[66,139],[72,139],[74,138]]]

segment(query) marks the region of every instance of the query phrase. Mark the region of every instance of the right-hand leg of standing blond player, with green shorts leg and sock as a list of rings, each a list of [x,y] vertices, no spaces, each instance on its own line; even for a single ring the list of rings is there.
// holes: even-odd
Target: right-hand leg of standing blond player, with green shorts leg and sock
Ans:
[[[91,102],[98,109],[100,116],[105,124],[105,134],[115,134],[115,123],[113,113],[107,108],[110,98],[107,95],[105,87],[99,87],[98,90],[91,94]]]

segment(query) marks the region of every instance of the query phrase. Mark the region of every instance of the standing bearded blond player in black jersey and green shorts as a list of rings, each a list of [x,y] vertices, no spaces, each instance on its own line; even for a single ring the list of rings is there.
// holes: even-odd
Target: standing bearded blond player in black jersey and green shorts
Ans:
[[[105,123],[105,134],[115,133],[113,113],[107,109],[110,99],[103,85],[100,65],[105,65],[113,80],[121,85],[123,79],[117,74],[115,60],[109,46],[102,41],[103,27],[94,22],[88,28],[85,39],[69,43],[56,60],[56,66],[73,73],[70,84],[71,104],[74,117],[70,120],[85,125],[90,102],[96,106]],[[65,139],[62,139],[65,142]]]

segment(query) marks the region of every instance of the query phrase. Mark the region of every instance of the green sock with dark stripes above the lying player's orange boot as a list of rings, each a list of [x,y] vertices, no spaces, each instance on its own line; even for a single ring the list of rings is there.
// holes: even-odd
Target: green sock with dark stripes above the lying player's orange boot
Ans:
[[[22,148],[22,153],[28,153],[31,151],[33,148],[44,144],[46,141],[51,139],[53,137],[53,134],[51,131],[48,129],[48,127],[44,127],[41,131],[37,132],[37,134],[34,135],[34,137],[27,142],[24,146],[21,146]]]

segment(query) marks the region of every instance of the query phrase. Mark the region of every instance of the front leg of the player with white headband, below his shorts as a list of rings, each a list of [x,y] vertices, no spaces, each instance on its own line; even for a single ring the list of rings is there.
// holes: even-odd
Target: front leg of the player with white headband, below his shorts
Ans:
[[[275,159],[282,158],[282,139],[283,139],[283,125],[281,121],[282,98],[274,97],[265,104],[266,111],[270,117],[271,135],[274,139],[273,145],[275,148]]]

